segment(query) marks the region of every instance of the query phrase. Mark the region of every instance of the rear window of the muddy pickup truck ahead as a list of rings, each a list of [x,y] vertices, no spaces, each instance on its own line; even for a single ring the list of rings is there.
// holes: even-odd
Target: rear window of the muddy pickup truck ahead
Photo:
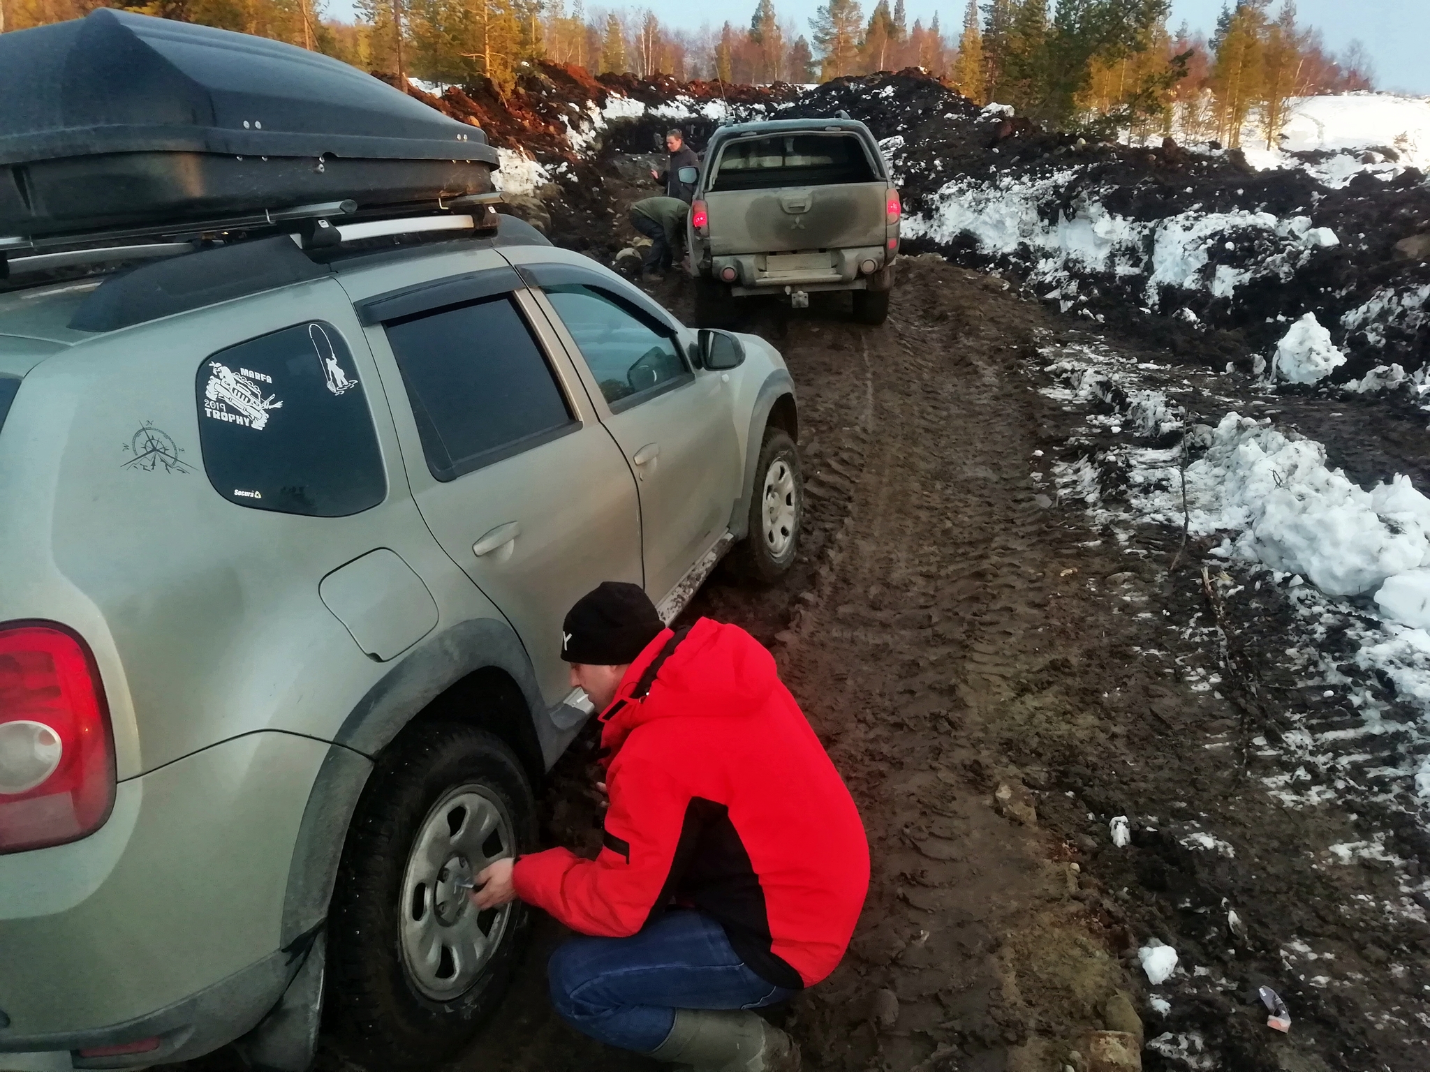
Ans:
[[[858,134],[771,134],[726,144],[709,190],[874,183]]]

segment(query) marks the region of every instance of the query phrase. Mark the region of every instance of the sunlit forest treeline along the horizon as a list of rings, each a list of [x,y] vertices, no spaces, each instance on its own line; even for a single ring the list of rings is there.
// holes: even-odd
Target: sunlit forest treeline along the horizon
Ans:
[[[569,6],[568,6],[569,3]],[[323,0],[150,0],[107,6],[260,34],[372,71],[436,83],[489,79],[508,91],[523,64],[679,80],[809,83],[921,67],[978,103],[1012,104],[1057,126],[1175,133],[1268,147],[1297,96],[1371,87],[1358,44],[1333,56],[1293,0],[1241,0],[1211,37],[1170,30],[1170,0],[968,0],[945,33],[908,23],[904,0],[827,0],[807,27],[756,0],[748,26],[699,30],[652,9],[586,10],[582,0],[356,0],[358,21]],[[0,0],[0,30],[74,19],[97,0]]]

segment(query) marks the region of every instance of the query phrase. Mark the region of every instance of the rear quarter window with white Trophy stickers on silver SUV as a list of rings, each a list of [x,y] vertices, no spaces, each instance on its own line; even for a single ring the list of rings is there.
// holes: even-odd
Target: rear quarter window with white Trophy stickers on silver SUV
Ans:
[[[213,489],[259,510],[343,517],[380,503],[388,476],[358,366],[313,320],[210,354],[194,383]]]

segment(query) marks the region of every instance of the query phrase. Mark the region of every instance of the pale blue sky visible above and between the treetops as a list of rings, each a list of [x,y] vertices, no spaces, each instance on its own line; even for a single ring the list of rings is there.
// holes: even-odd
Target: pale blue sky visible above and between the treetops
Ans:
[[[748,24],[758,0],[705,0],[699,4],[699,20],[719,26],[726,19],[736,26]],[[865,11],[877,0],[864,0]],[[1193,30],[1211,33],[1223,0],[1171,0],[1171,27],[1185,20]],[[809,17],[821,0],[775,0],[781,17],[792,17],[799,33],[808,36]],[[909,26],[922,19],[927,26],[938,11],[944,33],[957,37],[962,24],[962,0],[905,0]],[[649,7],[662,21],[696,30],[699,23],[691,16],[685,0],[586,0],[586,7]],[[1280,0],[1273,0],[1273,9]],[[327,0],[327,13],[335,19],[352,19],[352,0]],[[1303,24],[1317,26],[1331,51],[1340,51],[1351,40],[1360,41],[1376,61],[1376,86],[1387,90],[1430,96],[1430,63],[1426,47],[1430,43],[1430,0],[1300,0],[1297,14]]]

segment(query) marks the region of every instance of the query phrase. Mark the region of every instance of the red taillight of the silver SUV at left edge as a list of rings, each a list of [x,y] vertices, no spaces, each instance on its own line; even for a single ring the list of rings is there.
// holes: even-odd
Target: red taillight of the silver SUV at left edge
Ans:
[[[0,626],[0,853],[93,833],[114,805],[114,743],[89,647],[63,626]]]

